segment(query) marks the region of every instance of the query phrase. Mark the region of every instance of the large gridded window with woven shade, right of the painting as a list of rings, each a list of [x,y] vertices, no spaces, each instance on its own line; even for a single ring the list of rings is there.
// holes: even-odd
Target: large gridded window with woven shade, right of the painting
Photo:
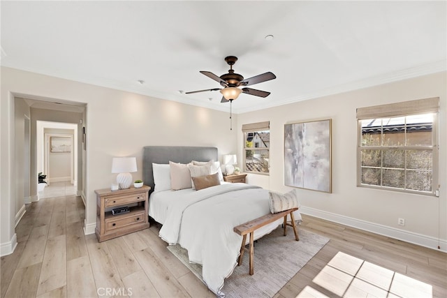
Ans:
[[[358,186],[434,195],[438,111],[439,98],[358,109]]]

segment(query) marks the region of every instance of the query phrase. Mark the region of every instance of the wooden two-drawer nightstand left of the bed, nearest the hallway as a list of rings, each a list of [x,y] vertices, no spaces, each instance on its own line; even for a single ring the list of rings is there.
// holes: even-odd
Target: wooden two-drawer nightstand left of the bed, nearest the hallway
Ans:
[[[142,186],[141,188],[131,187],[118,191],[110,191],[110,188],[95,191],[95,234],[98,241],[105,241],[149,228],[149,189],[151,189],[149,186]],[[130,212],[112,214],[112,209],[126,206],[130,207]]]

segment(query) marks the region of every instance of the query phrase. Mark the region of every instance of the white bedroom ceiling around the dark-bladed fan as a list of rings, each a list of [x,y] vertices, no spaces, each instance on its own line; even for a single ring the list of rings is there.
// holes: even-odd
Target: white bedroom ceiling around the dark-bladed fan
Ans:
[[[234,55],[246,78],[277,75],[240,113],[446,70],[446,3],[1,1],[1,65],[227,111],[179,91],[220,87],[199,70]]]

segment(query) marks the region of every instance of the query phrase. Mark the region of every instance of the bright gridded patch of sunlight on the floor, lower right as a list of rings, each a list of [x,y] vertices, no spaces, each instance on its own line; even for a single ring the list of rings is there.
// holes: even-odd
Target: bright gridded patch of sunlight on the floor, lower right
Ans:
[[[314,283],[339,297],[433,297],[432,285],[338,252]],[[307,285],[297,296],[327,297]]]

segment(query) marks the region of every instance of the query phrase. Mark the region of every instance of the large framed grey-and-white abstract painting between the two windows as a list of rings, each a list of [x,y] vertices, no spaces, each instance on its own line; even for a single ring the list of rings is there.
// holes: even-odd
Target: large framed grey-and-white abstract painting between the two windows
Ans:
[[[284,125],[284,184],[332,192],[332,119]]]

